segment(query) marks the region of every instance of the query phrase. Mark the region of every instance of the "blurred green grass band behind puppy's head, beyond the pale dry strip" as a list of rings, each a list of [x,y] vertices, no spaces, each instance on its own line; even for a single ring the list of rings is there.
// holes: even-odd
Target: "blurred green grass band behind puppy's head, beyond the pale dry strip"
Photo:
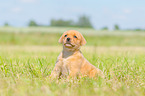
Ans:
[[[6,30],[6,29],[5,29]],[[8,30],[8,29],[7,29]],[[16,29],[15,29],[16,30]],[[84,29],[85,30],[85,29]],[[64,32],[64,31],[63,31]],[[83,31],[82,31],[83,32]],[[94,32],[94,31],[93,31]],[[138,33],[135,35],[133,32],[132,35],[127,35],[122,32],[122,35],[113,35],[118,32],[104,33],[106,35],[99,34],[84,34],[84,37],[87,40],[87,45],[95,46],[145,46],[145,32],[144,35]],[[103,32],[103,31],[101,31]],[[96,32],[96,33],[101,33]],[[108,32],[109,33],[109,32]],[[61,36],[61,32],[3,32],[0,30],[0,44],[1,45],[58,45],[58,40]],[[112,35],[111,35],[112,34]],[[120,34],[120,33],[118,33]]]

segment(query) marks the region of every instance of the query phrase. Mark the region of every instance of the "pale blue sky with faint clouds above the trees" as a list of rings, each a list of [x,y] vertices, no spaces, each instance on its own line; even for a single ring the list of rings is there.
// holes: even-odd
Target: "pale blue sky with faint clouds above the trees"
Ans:
[[[145,29],[145,0],[0,0],[0,26],[27,26],[33,19],[39,24],[54,19],[77,21],[87,15],[96,29],[104,26]]]

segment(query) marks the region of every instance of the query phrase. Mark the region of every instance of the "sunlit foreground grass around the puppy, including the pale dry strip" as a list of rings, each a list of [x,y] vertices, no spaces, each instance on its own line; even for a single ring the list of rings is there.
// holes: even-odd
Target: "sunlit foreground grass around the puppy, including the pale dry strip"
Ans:
[[[0,95],[145,95],[144,47],[84,46],[84,56],[103,70],[106,78],[52,81],[48,76],[61,50],[58,46],[1,46]]]

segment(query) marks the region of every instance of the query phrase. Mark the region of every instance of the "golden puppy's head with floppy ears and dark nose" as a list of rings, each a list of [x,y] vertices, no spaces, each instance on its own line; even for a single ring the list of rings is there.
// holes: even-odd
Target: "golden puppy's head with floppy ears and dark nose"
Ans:
[[[78,31],[69,30],[63,33],[59,39],[59,43],[62,43],[65,48],[77,49],[85,45],[86,40]]]

